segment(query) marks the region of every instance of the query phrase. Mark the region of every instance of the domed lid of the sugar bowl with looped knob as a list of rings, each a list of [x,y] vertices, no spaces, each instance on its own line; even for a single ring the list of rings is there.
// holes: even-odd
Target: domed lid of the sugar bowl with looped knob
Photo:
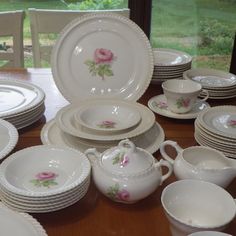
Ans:
[[[153,156],[147,151],[136,148],[128,139],[119,142],[118,146],[108,149],[101,157],[101,165],[114,174],[138,174],[153,165]]]

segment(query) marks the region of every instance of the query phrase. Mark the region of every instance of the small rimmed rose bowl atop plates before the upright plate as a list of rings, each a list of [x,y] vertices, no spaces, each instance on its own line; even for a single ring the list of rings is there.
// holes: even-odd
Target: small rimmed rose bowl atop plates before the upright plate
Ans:
[[[133,103],[96,100],[78,106],[75,122],[88,129],[103,132],[124,131],[139,123],[141,116]]]

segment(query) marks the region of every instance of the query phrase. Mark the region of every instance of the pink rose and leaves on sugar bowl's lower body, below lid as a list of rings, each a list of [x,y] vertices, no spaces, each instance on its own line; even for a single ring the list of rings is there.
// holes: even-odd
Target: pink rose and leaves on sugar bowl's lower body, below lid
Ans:
[[[107,195],[113,201],[129,201],[130,193],[126,189],[120,189],[120,185],[116,183],[113,186],[110,186],[107,190]]]

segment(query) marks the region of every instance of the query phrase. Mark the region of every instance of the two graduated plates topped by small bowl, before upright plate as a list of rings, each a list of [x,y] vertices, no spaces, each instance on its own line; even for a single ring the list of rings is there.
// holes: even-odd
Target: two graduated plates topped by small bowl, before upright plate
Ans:
[[[87,100],[58,111],[41,131],[44,144],[60,144],[85,151],[104,151],[129,138],[136,146],[154,153],[164,131],[146,106],[122,100]]]

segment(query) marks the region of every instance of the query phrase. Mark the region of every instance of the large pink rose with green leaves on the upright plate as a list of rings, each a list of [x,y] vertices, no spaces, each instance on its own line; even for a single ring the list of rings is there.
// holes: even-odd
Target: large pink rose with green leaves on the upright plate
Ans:
[[[105,77],[111,77],[114,75],[112,71],[112,63],[115,60],[114,53],[105,48],[97,48],[94,52],[93,60],[86,60],[84,63],[89,68],[89,73],[92,76],[99,76],[102,80]]]

